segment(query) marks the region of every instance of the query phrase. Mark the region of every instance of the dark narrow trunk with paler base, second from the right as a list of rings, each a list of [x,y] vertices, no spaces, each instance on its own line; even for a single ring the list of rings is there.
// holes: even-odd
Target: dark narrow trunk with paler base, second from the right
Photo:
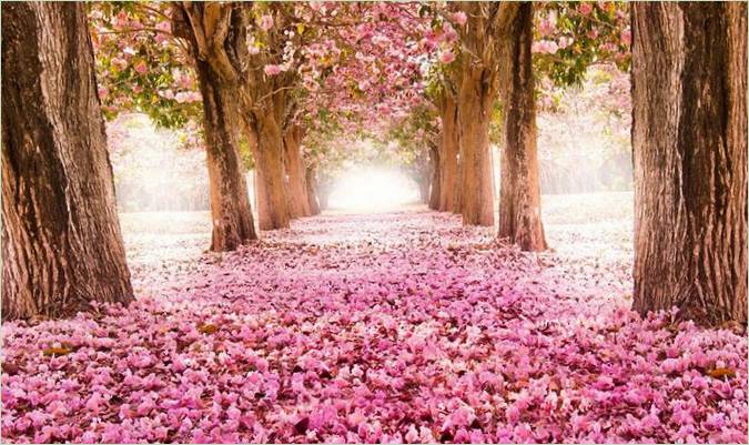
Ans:
[[[532,3],[519,6],[506,43],[499,237],[508,237],[524,251],[543,251],[547,245],[540,215],[536,149]]]

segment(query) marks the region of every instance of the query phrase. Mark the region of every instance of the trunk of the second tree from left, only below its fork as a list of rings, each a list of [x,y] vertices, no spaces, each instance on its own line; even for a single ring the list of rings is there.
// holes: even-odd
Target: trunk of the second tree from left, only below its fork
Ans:
[[[245,241],[257,240],[239,152],[241,120],[235,100],[236,90],[223,84],[208,62],[198,60],[196,71],[203,95],[203,128],[211,191],[211,250],[233,251]]]

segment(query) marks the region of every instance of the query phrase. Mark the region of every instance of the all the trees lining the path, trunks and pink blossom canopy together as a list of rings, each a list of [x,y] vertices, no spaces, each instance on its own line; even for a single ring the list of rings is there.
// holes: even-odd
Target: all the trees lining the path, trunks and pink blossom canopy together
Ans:
[[[201,121],[214,251],[257,239],[243,144],[257,168],[260,227],[285,227],[318,211],[325,134],[424,107],[439,117],[436,138],[412,144],[428,150],[431,205],[492,225],[499,113],[498,235],[544,250],[535,78],[574,83],[607,60],[628,68],[631,40],[635,307],[746,321],[746,4],[93,8],[90,36],[80,3],[2,6],[6,318],[132,299],[101,105]]]

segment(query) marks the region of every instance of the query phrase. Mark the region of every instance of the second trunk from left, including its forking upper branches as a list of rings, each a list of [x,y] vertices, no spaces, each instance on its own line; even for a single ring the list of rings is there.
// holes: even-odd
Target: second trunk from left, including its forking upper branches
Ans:
[[[173,29],[188,41],[203,95],[212,251],[232,251],[256,240],[244,168],[237,97],[246,57],[246,11],[241,4],[175,3]]]

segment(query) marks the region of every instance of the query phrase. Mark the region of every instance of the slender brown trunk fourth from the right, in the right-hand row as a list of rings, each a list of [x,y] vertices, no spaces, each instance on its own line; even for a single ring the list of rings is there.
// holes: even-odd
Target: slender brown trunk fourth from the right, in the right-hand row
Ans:
[[[445,94],[442,107],[442,152],[439,155],[439,204],[438,210],[459,212],[456,196],[458,188],[458,132],[457,103],[455,99]]]

